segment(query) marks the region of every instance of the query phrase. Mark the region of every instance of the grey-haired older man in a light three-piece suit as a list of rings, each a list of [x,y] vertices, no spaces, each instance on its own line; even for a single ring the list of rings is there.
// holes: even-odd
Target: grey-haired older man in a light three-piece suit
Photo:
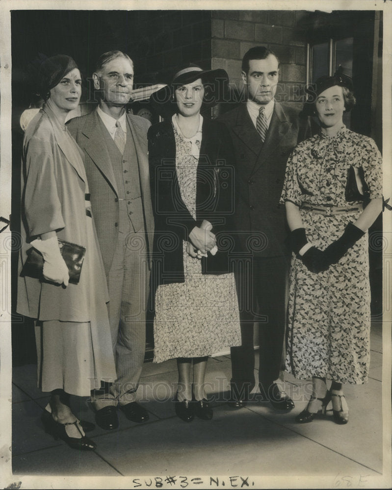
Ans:
[[[147,130],[150,123],[127,114],[133,63],[121,51],[101,55],[93,73],[99,106],[68,124],[85,156],[98,240],[109,290],[109,319],[117,379],[92,393],[97,424],[118,427],[117,406],[135,422],[147,420],[136,403],[145,352],[152,213]]]

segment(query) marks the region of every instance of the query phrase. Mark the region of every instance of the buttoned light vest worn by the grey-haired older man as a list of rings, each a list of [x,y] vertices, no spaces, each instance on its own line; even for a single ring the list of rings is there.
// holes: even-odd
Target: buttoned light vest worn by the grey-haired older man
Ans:
[[[104,123],[105,144],[116,179],[119,200],[120,233],[144,230],[143,203],[140,191],[139,166],[131,128],[127,119],[127,141],[123,155],[114,143]]]

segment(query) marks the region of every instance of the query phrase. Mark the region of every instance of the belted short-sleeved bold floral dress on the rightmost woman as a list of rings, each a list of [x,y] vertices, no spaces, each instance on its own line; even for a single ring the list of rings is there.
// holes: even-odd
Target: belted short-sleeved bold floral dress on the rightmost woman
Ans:
[[[299,144],[287,162],[281,202],[347,206],[348,175],[354,169],[358,190],[382,197],[382,159],[374,141],[343,126]],[[350,169],[352,167],[352,169]],[[362,187],[362,189],[361,189]],[[357,196],[358,198],[358,196]],[[360,210],[334,215],[300,209],[308,241],[324,250],[337,240]],[[367,381],[370,358],[368,235],[328,270],[310,272],[292,255],[287,322],[286,369],[296,378],[326,377],[340,383]]]

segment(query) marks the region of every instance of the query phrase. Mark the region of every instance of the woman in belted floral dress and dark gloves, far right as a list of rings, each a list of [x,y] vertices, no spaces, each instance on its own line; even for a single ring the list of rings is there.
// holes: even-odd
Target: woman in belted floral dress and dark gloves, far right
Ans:
[[[367,381],[370,287],[366,230],[382,208],[381,155],[372,139],[343,124],[355,104],[351,78],[319,78],[306,112],[320,132],[292,152],[282,202],[292,251],[287,324],[287,369],[313,379],[313,393],[297,422],[325,414],[348,422],[344,383]],[[332,380],[327,390],[326,379]]]

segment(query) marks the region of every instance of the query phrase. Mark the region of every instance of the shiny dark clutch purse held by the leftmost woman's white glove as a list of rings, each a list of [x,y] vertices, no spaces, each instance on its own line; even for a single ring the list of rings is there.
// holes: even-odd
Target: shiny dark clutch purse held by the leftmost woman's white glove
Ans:
[[[78,284],[80,279],[81,266],[83,265],[84,254],[86,249],[84,246],[58,240],[61,255],[64,262],[67,264],[69,272],[69,282]],[[27,260],[23,267],[22,276],[34,277],[42,279],[42,270],[44,267],[44,258],[41,253],[34,247],[27,250]]]

